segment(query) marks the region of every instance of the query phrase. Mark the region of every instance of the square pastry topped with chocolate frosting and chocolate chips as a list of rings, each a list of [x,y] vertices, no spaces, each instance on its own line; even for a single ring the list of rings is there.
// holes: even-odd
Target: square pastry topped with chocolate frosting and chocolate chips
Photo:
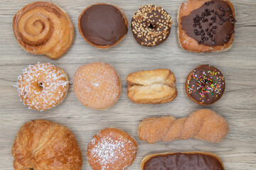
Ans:
[[[188,0],[178,11],[178,40],[193,52],[226,51],[233,45],[235,9],[228,0]]]

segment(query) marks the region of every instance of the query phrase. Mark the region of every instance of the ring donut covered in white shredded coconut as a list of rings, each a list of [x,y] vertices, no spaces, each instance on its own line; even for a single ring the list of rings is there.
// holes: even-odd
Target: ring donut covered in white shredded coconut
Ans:
[[[45,111],[60,104],[68,94],[68,75],[53,64],[29,65],[16,84],[23,104]]]

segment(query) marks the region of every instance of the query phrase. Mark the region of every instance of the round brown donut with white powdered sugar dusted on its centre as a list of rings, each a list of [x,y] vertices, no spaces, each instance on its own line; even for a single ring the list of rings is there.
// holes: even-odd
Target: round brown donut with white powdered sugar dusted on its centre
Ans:
[[[87,147],[87,159],[93,170],[125,170],[137,157],[137,142],[117,128],[100,130]]]

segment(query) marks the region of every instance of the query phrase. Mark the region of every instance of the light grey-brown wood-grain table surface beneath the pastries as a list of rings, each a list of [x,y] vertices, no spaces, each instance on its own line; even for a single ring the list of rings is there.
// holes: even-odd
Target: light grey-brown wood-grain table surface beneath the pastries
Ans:
[[[53,0],[70,15],[75,27],[75,39],[70,50],[58,60],[43,55],[31,55],[23,51],[14,38],[12,19],[20,8],[33,1],[1,0],[0,4],[0,166],[13,169],[11,146],[19,128],[26,121],[47,119],[67,126],[73,131],[82,149],[82,169],[90,169],[86,159],[87,144],[96,132],[103,128],[121,128],[135,137],[138,155],[129,169],[140,169],[139,164],[147,154],[158,152],[213,152],[223,160],[226,169],[256,169],[256,1],[231,0],[235,6],[237,24],[235,42],[228,52],[196,54],[182,50],[177,40],[177,11],[183,0],[114,0],[101,2],[116,4],[126,14],[130,23],[137,9],[148,3],[162,6],[174,19],[171,35],[158,47],[142,47],[132,36],[129,26],[127,37],[119,45],[99,50],[82,38],[78,32],[80,12],[96,1]],[[75,70],[89,62],[107,62],[117,70],[122,80],[119,101],[104,111],[82,106],[70,86],[67,98],[56,108],[38,112],[28,110],[20,102],[16,88],[18,74],[37,62],[50,62],[65,69],[70,81]],[[223,97],[211,106],[193,103],[184,88],[188,73],[199,64],[211,64],[223,72],[226,89]],[[174,72],[178,89],[177,98],[161,105],[139,105],[127,98],[125,78],[131,72],[146,69],[168,68]],[[137,137],[137,126],[144,118],[173,115],[188,116],[200,108],[210,108],[228,120],[230,132],[220,143],[201,140],[178,140],[147,144]]]

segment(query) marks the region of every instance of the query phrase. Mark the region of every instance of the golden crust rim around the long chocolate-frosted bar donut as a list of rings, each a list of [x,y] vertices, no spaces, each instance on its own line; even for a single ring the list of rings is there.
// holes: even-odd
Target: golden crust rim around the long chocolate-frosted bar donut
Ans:
[[[223,166],[224,169],[224,165],[222,160],[220,159],[220,157],[218,157],[216,154],[213,153],[209,153],[209,152],[181,152],[182,154],[206,154],[206,155],[210,155],[211,157],[215,157],[216,159],[218,159],[218,161],[220,162],[220,164]],[[156,157],[156,156],[160,156],[160,155],[167,155],[167,154],[177,154],[176,152],[165,152],[165,153],[159,153],[159,154],[149,154],[146,155],[146,157],[144,157],[142,159],[142,163],[141,163],[141,169],[144,169],[144,164],[151,159],[152,157]]]

